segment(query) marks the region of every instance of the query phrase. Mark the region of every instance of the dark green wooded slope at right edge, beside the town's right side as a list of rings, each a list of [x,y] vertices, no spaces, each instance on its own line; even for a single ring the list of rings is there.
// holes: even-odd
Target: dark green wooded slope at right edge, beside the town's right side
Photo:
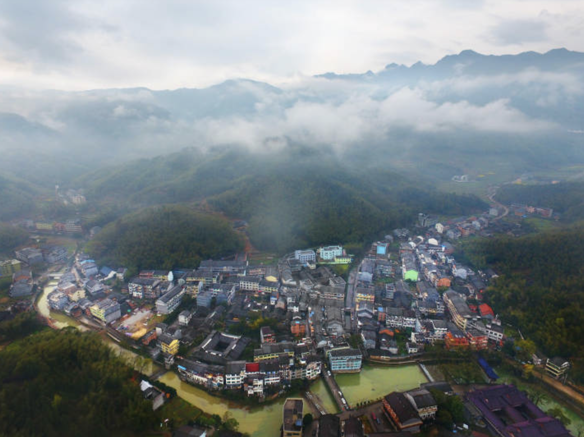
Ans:
[[[487,293],[493,309],[548,356],[571,359],[584,382],[584,225],[482,240],[467,253],[500,274]]]

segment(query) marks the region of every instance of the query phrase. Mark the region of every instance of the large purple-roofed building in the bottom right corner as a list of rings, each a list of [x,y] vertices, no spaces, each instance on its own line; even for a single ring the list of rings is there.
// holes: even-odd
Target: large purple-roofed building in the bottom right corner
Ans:
[[[490,386],[467,394],[494,435],[569,437],[562,422],[541,411],[515,386]]]

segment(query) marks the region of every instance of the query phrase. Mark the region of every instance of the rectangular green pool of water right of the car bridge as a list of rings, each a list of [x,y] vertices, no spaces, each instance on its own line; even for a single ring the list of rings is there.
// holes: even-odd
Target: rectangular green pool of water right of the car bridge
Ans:
[[[426,376],[417,364],[405,366],[363,366],[360,373],[336,375],[336,382],[349,405],[376,400],[392,391],[405,391],[427,383]]]

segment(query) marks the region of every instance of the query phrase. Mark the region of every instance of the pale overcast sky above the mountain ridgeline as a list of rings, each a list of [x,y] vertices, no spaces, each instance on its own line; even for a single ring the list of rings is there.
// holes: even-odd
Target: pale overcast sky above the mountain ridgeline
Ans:
[[[0,0],[0,88],[272,84],[389,63],[584,51],[581,0]]]

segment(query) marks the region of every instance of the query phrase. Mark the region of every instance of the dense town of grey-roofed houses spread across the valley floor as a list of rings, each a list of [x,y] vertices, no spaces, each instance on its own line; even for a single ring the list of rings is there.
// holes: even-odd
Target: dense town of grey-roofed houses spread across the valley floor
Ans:
[[[499,350],[506,341],[503,322],[483,302],[497,275],[473,270],[453,256],[457,239],[500,231],[503,225],[489,221],[498,214],[445,222],[420,214],[414,228],[395,229],[371,243],[358,263],[342,246],[331,245],[298,249],[273,264],[205,260],[197,268],[142,270],[127,277],[124,267],[98,266],[83,252],[69,259],[64,247],[44,246],[17,250],[15,259],[2,263],[2,274],[12,275],[11,296],[26,298],[36,287],[30,267],[65,266],[53,274],[51,309],[105,330],[181,380],[231,399],[263,401],[322,377],[339,410],[354,411],[361,407],[347,402],[335,374],[358,373],[366,362],[419,360],[429,383],[391,393],[371,407],[378,405],[375,411],[391,429],[416,432],[436,415],[436,392],[430,388],[451,395],[447,386],[436,386],[440,383],[420,361],[426,349],[472,350],[484,381],[498,380],[481,357],[482,350]],[[531,360],[558,380],[569,370],[560,357],[539,354]],[[159,406],[164,400],[156,390],[148,385],[144,393]],[[496,390],[520,396],[512,386]],[[502,396],[495,391],[488,395]],[[481,411],[479,397],[468,396]],[[311,406],[333,428],[341,426],[318,400]],[[489,414],[479,412],[477,420],[488,421]],[[552,421],[551,428],[560,432],[538,435],[569,435],[557,419],[541,411],[533,420],[538,418]],[[343,428],[356,426],[359,435],[362,426],[347,421]],[[378,431],[385,429],[375,414],[373,423]]]

